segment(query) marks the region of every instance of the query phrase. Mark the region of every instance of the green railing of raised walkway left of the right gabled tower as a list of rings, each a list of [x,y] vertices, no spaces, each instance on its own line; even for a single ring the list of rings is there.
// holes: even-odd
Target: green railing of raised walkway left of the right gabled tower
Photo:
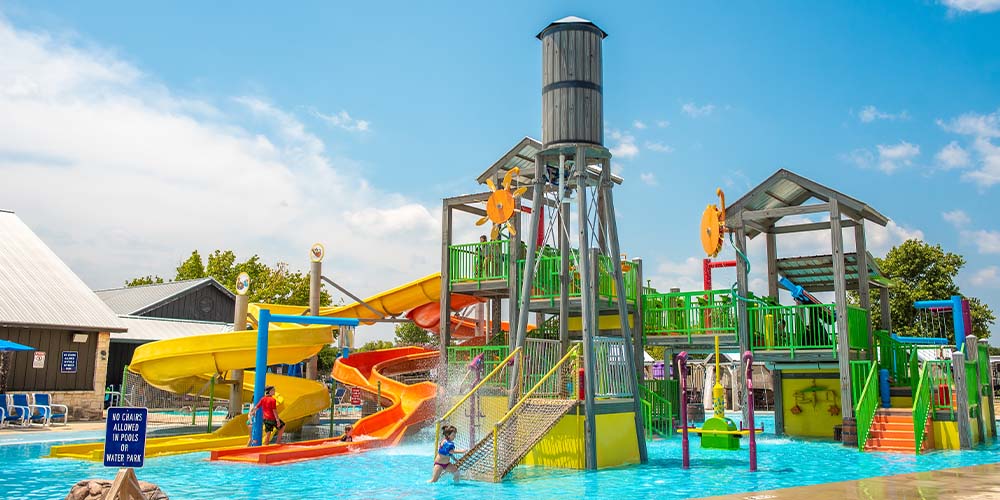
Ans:
[[[736,308],[729,290],[657,293],[642,297],[646,335],[735,334]]]

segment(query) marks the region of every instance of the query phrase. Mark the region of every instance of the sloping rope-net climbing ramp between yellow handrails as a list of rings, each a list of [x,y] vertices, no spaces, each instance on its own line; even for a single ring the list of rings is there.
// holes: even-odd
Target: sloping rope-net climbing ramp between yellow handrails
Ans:
[[[501,481],[576,403],[573,399],[525,398],[458,460],[462,475]]]

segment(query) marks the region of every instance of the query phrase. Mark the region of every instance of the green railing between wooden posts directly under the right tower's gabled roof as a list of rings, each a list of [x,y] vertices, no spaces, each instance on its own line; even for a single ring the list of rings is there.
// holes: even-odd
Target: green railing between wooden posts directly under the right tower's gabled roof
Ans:
[[[802,349],[837,348],[837,324],[833,304],[760,306],[747,309],[750,319],[750,349],[789,350],[792,357]]]

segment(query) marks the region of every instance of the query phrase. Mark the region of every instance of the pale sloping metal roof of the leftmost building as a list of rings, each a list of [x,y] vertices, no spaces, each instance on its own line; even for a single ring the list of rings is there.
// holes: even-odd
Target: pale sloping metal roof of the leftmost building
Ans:
[[[114,312],[13,212],[0,211],[0,325],[121,332]]]

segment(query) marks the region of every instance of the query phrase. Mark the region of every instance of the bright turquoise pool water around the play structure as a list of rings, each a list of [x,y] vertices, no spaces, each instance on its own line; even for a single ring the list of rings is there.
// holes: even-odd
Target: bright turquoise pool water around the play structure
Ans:
[[[764,434],[759,472],[748,455],[702,450],[691,440],[691,469],[681,469],[678,437],[649,443],[649,463],[596,472],[518,467],[500,484],[443,478],[427,484],[430,434],[397,448],[283,466],[208,462],[207,453],[147,459],[139,479],[157,483],[171,498],[689,498],[1000,461],[1000,446],[921,456],[859,453],[831,442]],[[77,460],[41,458],[50,443],[0,447],[0,497],[63,498],[81,479],[113,478],[114,469]]]

